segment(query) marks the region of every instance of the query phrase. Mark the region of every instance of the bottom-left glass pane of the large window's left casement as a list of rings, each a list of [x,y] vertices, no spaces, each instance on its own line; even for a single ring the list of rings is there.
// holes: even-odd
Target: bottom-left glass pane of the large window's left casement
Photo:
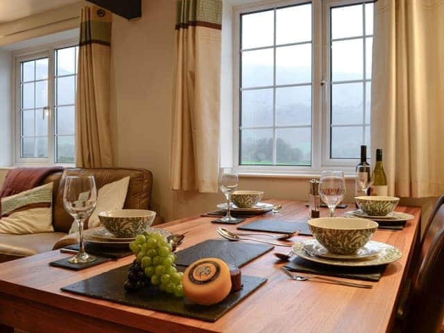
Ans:
[[[272,162],[273,130],[242,130],[240,164],[271,165]]]

